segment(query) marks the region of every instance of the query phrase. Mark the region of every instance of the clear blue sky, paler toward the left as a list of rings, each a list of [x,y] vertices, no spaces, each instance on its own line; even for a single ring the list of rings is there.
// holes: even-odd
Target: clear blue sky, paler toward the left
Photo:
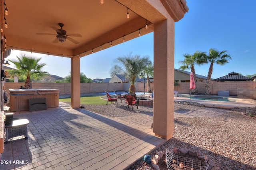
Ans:
[[[175,23],[175,63],[184,59],[185,53],[205,51],[210,48],[227,50],[232,57],[226,65],[214,65],[212,78],[222,77],[234,71],[242,75],[256,73],[256,12],[255,0],[246,2],[233,0],[187,0],[188,13]],[[149,56],[153,61],[153,34],[112,46],[108,49],[81,58],[81,72],[91,79],[110,77],[109,71],[114,60],[132,52],[133,55]],[[13,50],[7,59],[16,58],[18,51]],[[70,58],[33,53],[42,57],[47,65],[44,71],[65,77],[70,72]],[[13,67],[11,65],[11,67]],[[196,74],[208,74],[209,64],[196,66]],[[188,70],[190,71],[190,70]]]

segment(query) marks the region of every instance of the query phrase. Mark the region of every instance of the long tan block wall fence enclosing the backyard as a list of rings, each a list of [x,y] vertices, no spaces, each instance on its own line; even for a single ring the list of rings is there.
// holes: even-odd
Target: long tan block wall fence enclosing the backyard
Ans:
[[[199,94],[204,94],[205,82],[196,83]],[[24,83],[10,83],[4,82],[4,89],[9,92],[9,89],[18,89],[20,86],[24,86]],[[126,90],[128,91],[130,83],[81,83],[81,94],[83,93],[98,93],[104,91],[116,91]],[[136,83],[136,91],[144,91],[144,83]],[[154,83],[150,83],[151,89],[154,90]],[[248,98],[251,93],[256,91],[255,81],[232,81],[232,82],[211,82],[211,94],[217,95],[218,91],[229,91],[231,96],[238,96],[239,98]],[[59,89],[60,95],[70,94],[71,85],[70,83],[32,83],[34,89]],[[148,85],[145,83],[145,91],[147,91]],[[239,92],[238,92],[239,89]],[[243,89],[244,94],[243,94]],[[251,90],[248,90],[251,89]],[[174,90],[178,93],[190,93],[189,83],[179,83],[178,86],[174,86]],[[252,92],[253,91],[253,92]],[[255,94],[254,94],[255,95]],[[249,97],[251,98],[251,97]]]

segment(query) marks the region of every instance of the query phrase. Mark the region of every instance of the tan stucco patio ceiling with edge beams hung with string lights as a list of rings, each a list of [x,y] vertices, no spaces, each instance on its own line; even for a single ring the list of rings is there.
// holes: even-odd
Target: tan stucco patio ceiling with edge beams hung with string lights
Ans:
[[[146,19],[128,10],[116,0],[5,0],[8,15],[5,16],[8,28],[4,35],[8,48],[49,53],[72,57],[80,53],[91,53],[120,43],[123,36],[152,32],[145,29]],[[58,23],[68,34],[80,34],[81,37],[68,37],[63,43],[56,38]],[[150,24],[150,21],[147,22]],[[72,39],[70,39],[72,38]],[[120,40],[117,40],[120,38]]]

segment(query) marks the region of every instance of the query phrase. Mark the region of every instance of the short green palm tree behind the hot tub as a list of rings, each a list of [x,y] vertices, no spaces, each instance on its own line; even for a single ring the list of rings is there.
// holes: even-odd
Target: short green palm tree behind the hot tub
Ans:
[[[36,58],[29,53],[20,53],[16,57],[18,61],[8,59],[8,61],[14,63],[16,67],[16,69],[10,70],[9,73],[11,76],[26,75],[27,79],[24,85],[26,89],[32,89],[31,78],[40,78],[49,75],[48,72],[42,71],[42,67],[44,67],[46,63],[39,63],[41,58]]]

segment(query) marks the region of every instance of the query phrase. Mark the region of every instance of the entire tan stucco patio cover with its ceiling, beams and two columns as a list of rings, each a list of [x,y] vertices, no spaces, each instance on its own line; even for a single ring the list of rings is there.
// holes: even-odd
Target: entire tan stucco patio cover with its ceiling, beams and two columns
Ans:
[[[153,131],[172,137],[174,22],[188,12],[186,0],[0,0],[0,8],[1,69],[12,49],[70,58],[74,109],[81,57],[154,31]]]

